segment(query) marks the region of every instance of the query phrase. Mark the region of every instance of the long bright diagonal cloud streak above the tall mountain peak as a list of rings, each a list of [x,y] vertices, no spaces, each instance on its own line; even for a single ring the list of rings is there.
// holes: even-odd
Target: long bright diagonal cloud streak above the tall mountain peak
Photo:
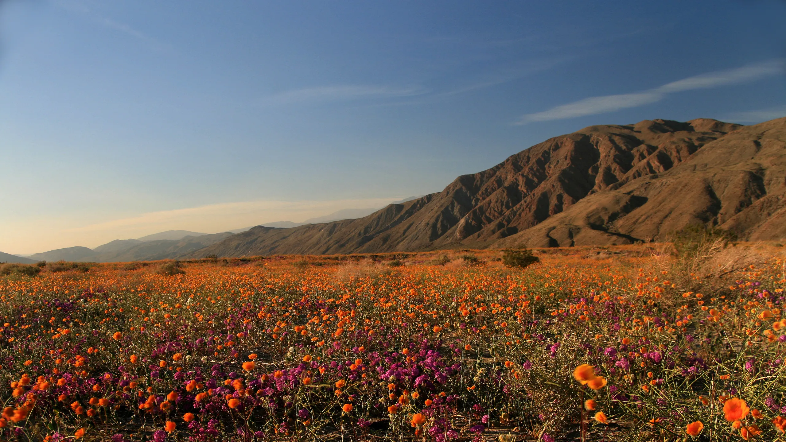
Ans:
[[[740,68],[724,71],[707,72],[698,76],[680,79],[664,84],[655,89],[642,90],[632,94],[604,95],[601,97],[584,98],[567,105],[559,105],[543,112],[530,113],[522,116],[516,124],[535,123],[539,121],[564,120],[578,116],[596,115],[614,112],[620,109],[634,108],[663,100],[667,94],[684,92],[685,90],[708,89],[731,84],[749,83],[769,76],[777,76],[784,72],[784,60],[768,60],[756,64],[748,64]]]

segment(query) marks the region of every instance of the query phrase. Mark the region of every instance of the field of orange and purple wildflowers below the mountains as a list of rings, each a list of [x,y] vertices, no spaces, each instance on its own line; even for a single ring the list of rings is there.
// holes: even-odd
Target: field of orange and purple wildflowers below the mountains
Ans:
[[[6,271],[0,440],[777,440],[784,249],[664,250]]]

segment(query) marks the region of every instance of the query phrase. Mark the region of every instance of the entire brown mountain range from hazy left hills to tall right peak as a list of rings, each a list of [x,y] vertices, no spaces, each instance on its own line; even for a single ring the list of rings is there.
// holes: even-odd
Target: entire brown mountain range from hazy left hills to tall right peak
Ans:
[[[590,126],[461,175],[442,192],[378,210],[345,209],[305,223],[220,234],[170,230],[28,258],[108,262],[617,245],[666,241],[696,224],[731,230],[742,240],[786,238],[786,118],[754,126],[711,119]]]

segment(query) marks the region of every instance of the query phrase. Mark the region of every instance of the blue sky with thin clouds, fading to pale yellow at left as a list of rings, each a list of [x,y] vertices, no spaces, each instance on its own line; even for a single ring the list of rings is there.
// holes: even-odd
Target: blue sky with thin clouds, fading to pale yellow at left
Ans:
[[[0,250],[442,190],[602,123],[786,115],[786,2],[0,6]]]

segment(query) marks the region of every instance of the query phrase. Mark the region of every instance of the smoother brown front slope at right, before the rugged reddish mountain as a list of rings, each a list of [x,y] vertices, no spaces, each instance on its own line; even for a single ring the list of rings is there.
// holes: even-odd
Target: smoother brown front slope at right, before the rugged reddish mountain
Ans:
[[[693,224],[749,241],[786,238],[786,118],[708,142],[668,171],[609,186],[559,215],[498,241],[598,245],[665,240]]]

